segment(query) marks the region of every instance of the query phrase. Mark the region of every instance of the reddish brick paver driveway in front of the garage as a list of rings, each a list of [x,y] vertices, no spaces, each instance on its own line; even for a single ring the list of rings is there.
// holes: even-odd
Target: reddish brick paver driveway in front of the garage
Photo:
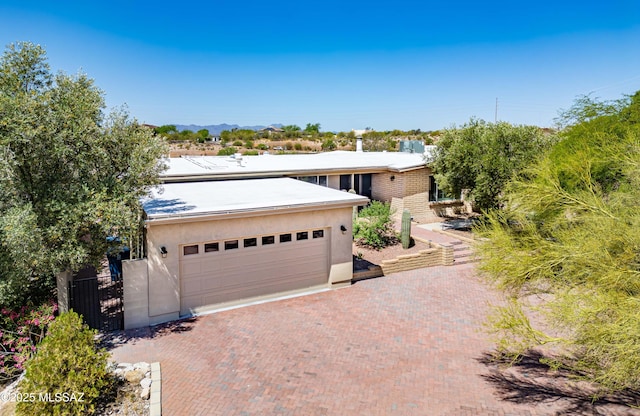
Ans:
[[[169,416],[634,414],[632,399],[592,405],[535,360],[482,360],[497,299],[473,264],[435,267],[128,331],[111,352],[161,363]]]

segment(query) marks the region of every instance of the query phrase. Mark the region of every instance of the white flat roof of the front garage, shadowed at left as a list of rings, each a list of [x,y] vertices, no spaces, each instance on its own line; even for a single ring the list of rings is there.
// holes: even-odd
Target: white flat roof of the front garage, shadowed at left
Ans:
[[[143,201],[148,220],[365,205],[368,198],[291,178],[163,184]]]

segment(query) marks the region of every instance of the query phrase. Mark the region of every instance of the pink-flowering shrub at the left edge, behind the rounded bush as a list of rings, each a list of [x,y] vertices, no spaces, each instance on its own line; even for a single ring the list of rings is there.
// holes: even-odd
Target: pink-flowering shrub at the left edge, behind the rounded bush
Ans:
[[[0,311],[0,384],[11,381],[24,371],[24,365],[36,352],[58,305],[45,303],[37,308]]]

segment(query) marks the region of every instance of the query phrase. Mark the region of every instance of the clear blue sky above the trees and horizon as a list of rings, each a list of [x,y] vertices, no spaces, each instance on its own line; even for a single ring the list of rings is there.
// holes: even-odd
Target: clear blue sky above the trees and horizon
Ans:
[[[41,44],[150,124],[437,130],[551,126],[582,94],[640,90],[640,0],[5,1]]]

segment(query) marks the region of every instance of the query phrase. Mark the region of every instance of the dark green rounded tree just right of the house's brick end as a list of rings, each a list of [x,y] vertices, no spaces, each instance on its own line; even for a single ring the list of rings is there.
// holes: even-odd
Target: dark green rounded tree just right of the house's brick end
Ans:
[[[445,130],[432,161],[438,186],[449,195],[469,190],[477,209],[497,208],[505,184],[548,149],[555,136],[534,126],[471,119]]]

